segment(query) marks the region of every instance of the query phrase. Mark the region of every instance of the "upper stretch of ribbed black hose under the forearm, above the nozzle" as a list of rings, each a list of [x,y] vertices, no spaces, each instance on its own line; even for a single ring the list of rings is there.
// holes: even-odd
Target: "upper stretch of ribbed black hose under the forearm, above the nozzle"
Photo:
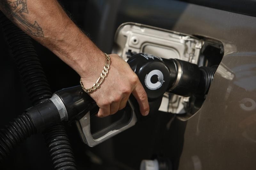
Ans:
[[[2,12],[0,20],[10,53],[15,60],[32,104],[35,106],[51,98],[52,92],[31,38],[6,18]]]

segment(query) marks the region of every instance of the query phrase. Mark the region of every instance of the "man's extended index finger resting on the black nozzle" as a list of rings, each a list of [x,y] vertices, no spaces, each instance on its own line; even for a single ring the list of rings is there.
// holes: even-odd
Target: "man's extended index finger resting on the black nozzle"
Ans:
[[[135,88],[132,91],[132,94],[139,103],[141,115],[143,116],[148,115],[149,113],[148,95],[145,92],[140,81],[138,81],[138,83],[135,85]]]

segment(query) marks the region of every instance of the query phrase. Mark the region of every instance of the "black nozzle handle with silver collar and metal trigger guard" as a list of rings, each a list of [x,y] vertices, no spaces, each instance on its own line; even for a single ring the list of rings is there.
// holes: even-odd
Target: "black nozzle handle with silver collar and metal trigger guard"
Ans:
[[[128,101],[122,112],[121,119],[113,122],[96,133],[91,133],[91,118],[98,113],[99,107],[96,102],[82,90],[81,86],[70,87],[55,92],[51,98],[58,108],[60,119],[75,120],[77,129],[85,144],[95,146],[115,136],[122,131],[129,129],[137,122],[136,108],[131,100]]]

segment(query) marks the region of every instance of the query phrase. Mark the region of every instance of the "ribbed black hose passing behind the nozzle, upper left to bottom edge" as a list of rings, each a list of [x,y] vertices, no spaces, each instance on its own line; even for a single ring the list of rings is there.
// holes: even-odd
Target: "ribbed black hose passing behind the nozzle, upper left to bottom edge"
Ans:
[[[3,13],[0,14],[0,24],[5,35],[22,80],[27,88],[33,105],[52,97],[52,92],[37,57],[31,38],[15,26]],[[59,133],[61,132],[61,133]],[[48,141],[52,163],[55,169],[76,169],[67,133],[63,125],[57,125],[44,133]],[[52,146],[56,149],[52,149]]]

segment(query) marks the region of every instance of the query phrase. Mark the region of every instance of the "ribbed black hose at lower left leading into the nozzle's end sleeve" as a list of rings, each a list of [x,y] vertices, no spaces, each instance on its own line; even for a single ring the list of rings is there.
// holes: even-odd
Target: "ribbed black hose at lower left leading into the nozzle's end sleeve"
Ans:
[[[23,113],[0,130],[0,162],[7,158],[20,142],[36,133],[36,125],[27,113]]]

